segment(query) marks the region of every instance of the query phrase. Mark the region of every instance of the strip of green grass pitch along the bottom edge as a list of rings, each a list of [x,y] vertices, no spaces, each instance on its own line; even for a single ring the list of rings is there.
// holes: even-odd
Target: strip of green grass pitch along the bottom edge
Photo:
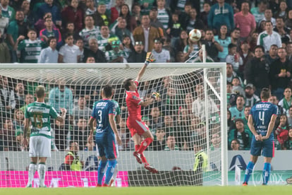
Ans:
[[[54,189],[0,189],[3,195],[284,195],[291,194],[292,186],[248,186],[248,187],[99,187],[99,188],[54,188]]]

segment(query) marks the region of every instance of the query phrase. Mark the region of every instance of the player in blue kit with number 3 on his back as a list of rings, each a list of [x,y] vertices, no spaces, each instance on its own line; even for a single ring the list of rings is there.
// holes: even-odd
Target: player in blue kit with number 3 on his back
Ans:
[[[90,136],[88,140],[92,140],[93,132],[96,130],[95,142],[100,156],[97,187],[108,187],[111,177],[114,174],[116,167],[116,142],[121,145],[121,137],[118,135],[115,122],[115,105],[111,101],[114,95],[114,90],[111,85],[105,85],[102,88],[102,100],[99,100],[95,107],[93,107],[90,118]],[[95,129],[95,120],[97,122]],[[102,178],[104,177],[104,169],[107,166],[105,182],[102,185]]]

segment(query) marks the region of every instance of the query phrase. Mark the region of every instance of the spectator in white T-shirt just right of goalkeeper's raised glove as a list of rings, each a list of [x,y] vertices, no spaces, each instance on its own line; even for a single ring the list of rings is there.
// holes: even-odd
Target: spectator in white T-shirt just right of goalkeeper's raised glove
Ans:
[[[154,40],[154,49],[152,50],[154,63],[170,62],[170,54],[166,49],[162,49],[163,41],[160,38]]]

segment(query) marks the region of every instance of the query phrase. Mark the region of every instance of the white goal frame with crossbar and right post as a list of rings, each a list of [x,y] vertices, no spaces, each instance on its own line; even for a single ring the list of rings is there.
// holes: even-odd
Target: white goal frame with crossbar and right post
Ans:
[[[205,55],[204,55],[205,59]],[[0,69],[130,69],[141,68],[142,64],[0,64]],[[151,69],[203,69],[204,86],[209,85],[210,90],[220,100],[220,123],[221,123],[221,185],[228,185],[228,160],[227,160],[227,97],[226,97],[226,63],[155,63],[150,64]],[[204,68],[218,68],[220,71],[220,95],[207,80]],[[146,70],[147,71],[147,70]],[[1,73],[0,73],[1,75]],[[13,77],[13,76],[11,76]],[[205,97],[207,91],[205,90]],[[207,101],[205,101],[207,102]],[[207,103],[205,107],[207,108]],[[205,109],[207,112],[207,109]],[[207,115],[206,115],[207,116]],[[208,125],[206,125],[208,126]]]

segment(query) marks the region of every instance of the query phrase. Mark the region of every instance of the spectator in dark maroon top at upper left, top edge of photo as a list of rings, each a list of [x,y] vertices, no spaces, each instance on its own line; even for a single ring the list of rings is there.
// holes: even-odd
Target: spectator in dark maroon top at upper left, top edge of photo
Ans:
[[[67,23],[74,23],[75,29],[79,32],[83,28],[84,13],[80,8],[78,0],[71,0],[70,5],[61,12],[63,28]]]

